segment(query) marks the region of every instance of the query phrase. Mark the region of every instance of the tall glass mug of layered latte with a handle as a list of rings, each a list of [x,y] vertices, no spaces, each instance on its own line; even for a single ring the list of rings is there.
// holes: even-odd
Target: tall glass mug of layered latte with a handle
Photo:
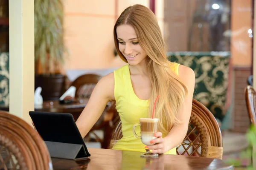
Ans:
[[[141,142],[147,146],[154,145],[155,143],[150,143],[152,139],[156,139],[157,137],[154,137],[154,133],[157,132],[157,123],[158,118],[140,118],[140,123],[136,123],[133,126],[133,133],[134,136],[138,139],[141,139]],[[135,127],[140,126],[140,135],[138,136],[135,132]],[[140,154],[142,157],[157,157],[157,153],[151,153],[148,149],[146,149],[145,153]]]

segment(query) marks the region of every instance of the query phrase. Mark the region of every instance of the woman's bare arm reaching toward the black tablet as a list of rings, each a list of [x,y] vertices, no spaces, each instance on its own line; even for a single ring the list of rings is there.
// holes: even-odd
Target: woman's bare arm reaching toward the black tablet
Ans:
[[[84,137],[97,122],[107,103],[114,100],[114,74],[110,73],[99,80],[90,99],[76,121],[76,125]]]

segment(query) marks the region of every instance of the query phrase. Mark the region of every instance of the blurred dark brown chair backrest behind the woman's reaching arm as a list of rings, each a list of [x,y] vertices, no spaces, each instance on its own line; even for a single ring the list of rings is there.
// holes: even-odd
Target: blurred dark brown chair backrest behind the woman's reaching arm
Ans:
[[[76,78],[70,86],[76,87],[75,98],[88,98],[102,77],[96,74],[84,74]]]

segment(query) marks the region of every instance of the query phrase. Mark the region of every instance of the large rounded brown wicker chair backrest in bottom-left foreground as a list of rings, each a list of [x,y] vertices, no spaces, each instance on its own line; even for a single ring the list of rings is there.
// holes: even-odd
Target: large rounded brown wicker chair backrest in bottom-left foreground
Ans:
[[[0,111],[0,169],[52,170],[47,147],[24,120]]]

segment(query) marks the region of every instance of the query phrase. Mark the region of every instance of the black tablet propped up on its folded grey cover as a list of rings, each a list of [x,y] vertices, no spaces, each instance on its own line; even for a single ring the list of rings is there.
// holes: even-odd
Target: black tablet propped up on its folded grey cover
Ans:
[[[78,160],[90,156],[70,113],[30,111],[29,115],[51,157]]]

